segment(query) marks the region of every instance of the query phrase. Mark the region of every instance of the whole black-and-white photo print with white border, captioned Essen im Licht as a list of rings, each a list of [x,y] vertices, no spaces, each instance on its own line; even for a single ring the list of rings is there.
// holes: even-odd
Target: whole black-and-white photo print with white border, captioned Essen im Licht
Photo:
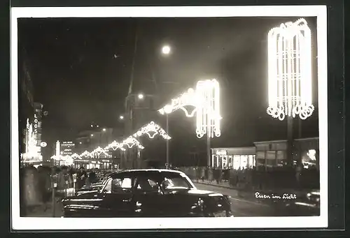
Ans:
[[[326,19],[12,8],[13,228],[327,227]]]

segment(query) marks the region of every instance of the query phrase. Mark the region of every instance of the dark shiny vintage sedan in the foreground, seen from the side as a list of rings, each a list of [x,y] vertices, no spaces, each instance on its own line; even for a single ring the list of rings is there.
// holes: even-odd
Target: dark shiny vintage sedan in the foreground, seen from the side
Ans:
[[[62,200],[64,217],[232,216],[227,195],[198,190],[183,172],[125,170],[102,188]]]

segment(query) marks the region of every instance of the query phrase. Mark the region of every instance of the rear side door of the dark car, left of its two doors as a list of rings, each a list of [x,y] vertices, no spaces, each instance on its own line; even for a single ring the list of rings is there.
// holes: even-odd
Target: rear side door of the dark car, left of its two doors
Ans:
[[[108,217],[130,217],[134,214],[132,204],[132,177],[110,179],[103,191],[102,210]]]

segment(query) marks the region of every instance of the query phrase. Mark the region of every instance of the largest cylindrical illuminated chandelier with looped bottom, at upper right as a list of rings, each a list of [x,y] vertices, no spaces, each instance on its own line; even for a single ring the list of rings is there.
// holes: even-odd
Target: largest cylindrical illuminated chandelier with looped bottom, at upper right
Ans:
[[[267,114],[307,119],[314,112],[311,87],[311,31],[304,19],[268,34],[269,107]]]

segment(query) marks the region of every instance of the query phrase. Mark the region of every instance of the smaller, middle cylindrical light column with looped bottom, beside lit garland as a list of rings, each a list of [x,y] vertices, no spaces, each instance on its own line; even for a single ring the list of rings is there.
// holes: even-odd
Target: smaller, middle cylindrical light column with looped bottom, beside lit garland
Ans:
[[[209,133],[209,137],[221,135],[220,87],[217,80],[197,82],[197,98],[200,106],[197,109],[197,137]]]

